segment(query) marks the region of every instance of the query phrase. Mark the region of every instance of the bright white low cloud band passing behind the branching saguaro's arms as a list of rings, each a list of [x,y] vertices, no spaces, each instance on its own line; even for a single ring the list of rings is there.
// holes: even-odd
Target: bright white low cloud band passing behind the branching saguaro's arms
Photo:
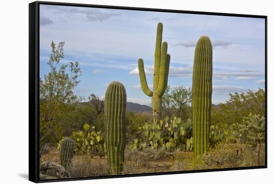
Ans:
[[[144,72],[145,75],[153,75],[154,66],[145,66]],[[138,68],[135,68],[129,72],[131,75],[139,75]],[[191,76],[192,70],[185,67],[169,67],[168,76],[170,77],[185,77],[185,76]]]

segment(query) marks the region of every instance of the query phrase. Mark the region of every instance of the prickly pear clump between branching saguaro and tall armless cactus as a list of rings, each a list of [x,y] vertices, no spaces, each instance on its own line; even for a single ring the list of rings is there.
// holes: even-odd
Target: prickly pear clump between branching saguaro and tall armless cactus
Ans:
[[[140,138],[132,141],[130,149],[144,150],[145,148],[158,150],[162,148],[167,152],[176,149],[192,151],[192,122],[190,119],[183,122],[180,118],[165,117],[158,124],[144,123],[139,126]],[[185,146],[183,146],[185,145]]]

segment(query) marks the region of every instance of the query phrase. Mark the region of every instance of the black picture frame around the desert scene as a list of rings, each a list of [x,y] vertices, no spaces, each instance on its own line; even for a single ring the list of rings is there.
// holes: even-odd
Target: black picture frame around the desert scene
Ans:
[[[220,15],[220,16],[236,16],[236,17],[253,17],[265,19],[265,92],[266,92],[266,146],[265,146],[265,166],[256,167],[240,167],[226,169],[209,169],[195,171],[177,171],[177,172],[162,172],[162,173],[146,173],[132,174],[119,176],[99,176],[87,178],[70,178],[70,179],[39,179],[39,5],[62,5],[62,6],[78,6],[78,7],[97,7],[97,8],[112,8],[126,10],[141,10],[141,11],[158,11],[158,12],[175,12],[188,14],[204,14],[204,15]],[[233,13],[216,13],[202,11],[185,11],[173,9],[155,9],[141,7],[126,7],[112,5],[95,5],[95,4],[79,4],[79,3],[63,3],[63,2],[47,2],[35,1],[29,3],[29,181],[34,183],[44,182],[61,182],[61,181],[76,181],[76,180],[92,180],[106,178],[123,178],[123,177],[138,177],[138,176],[153,176],[153,175],[170,175],[183,173],[199,173],[213,171],[230,171],[230,170],[246,170],[246,169],[263,169],[267,168],[267,16],[265,15],[248,15],[248,14],[233,14]]]

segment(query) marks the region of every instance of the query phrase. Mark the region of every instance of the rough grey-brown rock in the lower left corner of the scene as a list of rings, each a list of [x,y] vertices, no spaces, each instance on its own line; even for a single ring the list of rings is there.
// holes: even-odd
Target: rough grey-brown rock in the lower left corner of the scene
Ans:
[[[42,175],[47,175],[56,178],[70,178],[70,174],[66,169],[52,161],[44,161],[40,164],[40,172]]]

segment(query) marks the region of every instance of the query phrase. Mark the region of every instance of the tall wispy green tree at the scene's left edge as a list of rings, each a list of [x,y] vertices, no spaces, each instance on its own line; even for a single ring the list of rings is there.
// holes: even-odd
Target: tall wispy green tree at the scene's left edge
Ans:
[[[67,104],[77,101],[73,89],[79,84],[81,70],[79,62],[60,64],[64,59],[64,44],[51,42],[51,54],[48,61],[49,72],[40,78],[40,156],[45,143],[57,142],[62,136],[58,122]],[[67,71],[68,70],[68,71]]]

